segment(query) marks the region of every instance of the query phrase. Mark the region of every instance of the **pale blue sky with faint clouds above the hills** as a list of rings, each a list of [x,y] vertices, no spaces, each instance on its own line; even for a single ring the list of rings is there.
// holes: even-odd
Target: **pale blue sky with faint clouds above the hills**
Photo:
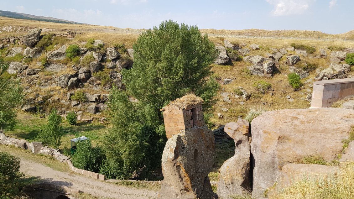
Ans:
[[[0,10],[119,28],[152,28],[161,21],[200,29],[354,29],[354,0],[0,0]]]

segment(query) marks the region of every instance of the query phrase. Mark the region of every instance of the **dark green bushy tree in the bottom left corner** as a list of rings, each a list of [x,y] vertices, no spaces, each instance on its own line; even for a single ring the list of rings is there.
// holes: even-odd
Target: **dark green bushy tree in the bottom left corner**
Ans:
[[[0,198],[10,199],[22,195],[22,178],[19,172],[20,159],[7,152],[0,152]]]

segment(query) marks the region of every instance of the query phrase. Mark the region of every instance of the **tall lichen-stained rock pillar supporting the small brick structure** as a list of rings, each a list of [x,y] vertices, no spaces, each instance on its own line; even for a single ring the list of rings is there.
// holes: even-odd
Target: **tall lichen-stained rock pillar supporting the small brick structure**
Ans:
[[[164,181],[158,198],[218,198],[208,177],[215,157],[214,135],[207,126],[172,136],[162,153]]]

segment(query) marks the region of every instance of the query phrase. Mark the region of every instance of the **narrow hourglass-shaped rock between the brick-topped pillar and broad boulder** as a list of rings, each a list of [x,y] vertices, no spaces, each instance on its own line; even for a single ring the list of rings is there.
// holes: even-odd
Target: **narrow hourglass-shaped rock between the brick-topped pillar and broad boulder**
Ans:
[[[251,190],[249,122],[239,119],[236,123],[227,123],[224,131],[235,141],[235,155],[220,167],[218,196],[229,198],[231,195],[245,195]]]

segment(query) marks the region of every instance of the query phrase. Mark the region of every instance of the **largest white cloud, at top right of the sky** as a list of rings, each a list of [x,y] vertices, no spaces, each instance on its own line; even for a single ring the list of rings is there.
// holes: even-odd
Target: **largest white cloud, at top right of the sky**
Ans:
[[[266,0],[270,5],[274,5],[272,14],[275,16],[301,15],[315,0]]]

